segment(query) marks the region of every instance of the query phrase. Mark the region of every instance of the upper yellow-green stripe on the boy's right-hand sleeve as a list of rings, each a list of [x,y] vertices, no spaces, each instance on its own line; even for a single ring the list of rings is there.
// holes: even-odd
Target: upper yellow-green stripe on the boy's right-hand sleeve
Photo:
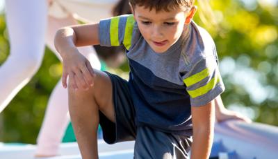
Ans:
[[[208,75],[209,70],[208,68],[206,68],[203,71],[196,73],[195,75],[183,79],[183,82],[186,84],[186,86],[192,86],[193,84],[196,84],[197,82],[202,81],[202,79],[208,77]]]

